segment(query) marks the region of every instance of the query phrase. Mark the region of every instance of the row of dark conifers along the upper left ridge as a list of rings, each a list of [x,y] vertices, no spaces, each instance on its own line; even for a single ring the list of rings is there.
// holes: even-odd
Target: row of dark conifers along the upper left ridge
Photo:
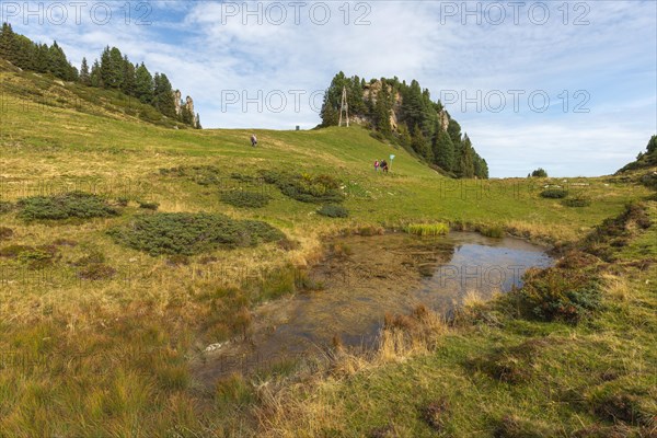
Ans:
[[[176,97],[166,74],[151,74],[143,62],[132,64],[116,47],[105,47],[100,61],[94,60],[91,68],[87,58],[83,58],[78,70],[57,42],[50,46],[34,43],[14,33],[11,24],[3,23],[0,30],[0,58],[23,70],[50,73],[64,81],[119,90],[143,104],[152,105],[166,117],[200,129],[198,114],[193,114],[183,102],[180,102],[180,113],[176,112]]]

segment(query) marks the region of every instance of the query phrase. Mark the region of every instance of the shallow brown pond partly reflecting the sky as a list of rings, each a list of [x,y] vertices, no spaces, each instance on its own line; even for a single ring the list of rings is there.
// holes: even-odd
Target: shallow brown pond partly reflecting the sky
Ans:
[[[387,312],[407,313],[418,303],[447,312],[469,293],[488,299],[520,286],[528,268],[551,264],[543,247],[470,232],[336,238],[308,273],[322,290],[260,307],[249,338],[205,355],[195,371],[214,381],[267,369],[321,353],[335,337],[347,346],[371,346]]]

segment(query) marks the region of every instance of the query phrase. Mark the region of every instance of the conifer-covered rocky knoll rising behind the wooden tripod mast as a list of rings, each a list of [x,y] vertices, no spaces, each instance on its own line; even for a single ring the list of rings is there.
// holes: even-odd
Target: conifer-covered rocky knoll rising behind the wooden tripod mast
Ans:
[[[373,85],[378,83],[381,87],[374,95]],[[365,118],[379,136],[402,146],[451,176],[488,177],[488,164],[475,151],[468,134],[461,131],[461,126],[451,118],[440,101],[431,101],[429,91],[423,90],[416,80],[407,84],[394,77],[372,79],[368,83],[358,76],[349,78],[341,71],[324,93],[322,127],[337,126],[343,88],[347,90],[350,118]],[[393,113],[396,116],[396,129],[391,124]],[[447,125],[446,129],[443,124]]]

